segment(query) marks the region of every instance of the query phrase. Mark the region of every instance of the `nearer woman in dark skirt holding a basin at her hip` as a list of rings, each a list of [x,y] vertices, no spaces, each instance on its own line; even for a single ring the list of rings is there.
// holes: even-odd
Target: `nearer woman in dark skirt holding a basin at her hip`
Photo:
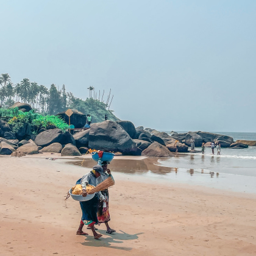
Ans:
[[[77,183],[80,183],[82,185],[82,196],[87,196],[86,186],[88,184],[94,186],[98,185],[97,178],[100,177],[102,174],[104,174],[102,167],[100,165],[96,165],[93,167],[92,171],[85,174],[80,180],[77,180]],[[80,226],[76,232],[77,235],[88,235],[88,233],[84,233],[82,231],[84,225],[87,225],[93,231],[94,239],[99,239],[102,236],[101,234],[97,233],[94,228],[94,224],[98,224],[98,201],[105,201],[105,197],[100,191],[96,193],[93,199],[80,202],[82,219],[80,221]]]

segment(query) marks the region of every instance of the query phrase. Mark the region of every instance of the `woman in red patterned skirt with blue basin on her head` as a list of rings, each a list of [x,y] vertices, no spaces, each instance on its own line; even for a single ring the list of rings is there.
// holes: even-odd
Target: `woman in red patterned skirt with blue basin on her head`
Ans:
[[[111,171],[108,169],[108,163],[109,162],[102,162],[101,166],[102,169],[104,170],[104,173],[101,174],[100,177],[98,177],[98,183],[104,182],[105,179],[110,177]],[[108,194],[108,189],[101,191],[101,194],[104,196],[104,201],[99,201],[98,204],[98,212],[97,212],[97,217],[98,217],[98,223],[99,225],[101,223],[105,223],[105,226],[107,227],[107,233],[111,234],[116,232],[116,230],[111,229],[110,226],[108,225],[108,222],[110,221],[110,214],[108,210],[108,204],[109,204],[109,194]]]

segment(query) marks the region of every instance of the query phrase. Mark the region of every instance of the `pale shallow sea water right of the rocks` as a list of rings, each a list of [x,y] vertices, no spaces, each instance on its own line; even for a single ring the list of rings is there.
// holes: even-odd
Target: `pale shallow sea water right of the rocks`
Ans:
[[[215,132],[229,135],[236,140],[256,140],[256,133]],[[201,148],[196,148],[201,151]],[[221,155],[212,154],[205,148],[205,154],[179,154],[179,157],[158,160],[161,166],[177,168],[165,179],[204,185],[212,188],[256,193],[256,147],[246,149],[221,148]]]

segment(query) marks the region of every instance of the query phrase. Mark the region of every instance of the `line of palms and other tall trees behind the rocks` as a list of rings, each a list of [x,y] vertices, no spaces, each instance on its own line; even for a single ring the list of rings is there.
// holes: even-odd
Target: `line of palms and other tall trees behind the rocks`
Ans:
[[[13,84],[9,74],[1,74],[0,76],[0,107],[8,108],[15,102],[20,101],[30,104],[35,112],[43,113],[44,115],[55,115],[65,111],[67,108],[76,108],[83,113],[91,113],[95,108],[101,110],[110,110],[110,93],[107,96],[107,101],[104,102],[101,91],[97,96],[94,87],[88,87],[90,96],[86,101],[74,97],[73,93],[66,92],[65,85],[59,90],[55,84],[52,84],[48,89],[44,85],[38,85],[37,82],[30,82],[24,78],[20,83]],[[93,91],[93,96],[92,96]],[[112,95],[113,99],[113,95]],[[103,115],[104,111],[102,111]],[[113,115],[114,116],[114,115]]]

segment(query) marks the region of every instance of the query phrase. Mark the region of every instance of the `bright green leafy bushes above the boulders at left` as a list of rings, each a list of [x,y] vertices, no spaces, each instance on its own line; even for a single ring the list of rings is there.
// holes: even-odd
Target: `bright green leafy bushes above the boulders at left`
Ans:
[[[10,110],[8,111],[10,114]],[[14,115],[14,113],[17,113],[17,115]],[[12,114],[13,118],[10,119],[8,123],[12,128],[13,132],[18,132],[18,130],[26,124],[30,127],[30,133],[34,135],[37,135],[38,130],[40,130],[41,128],[59,128],[63,131],[68,129],[68,124],[66,124],[63,119],[59,118],[59,116],[43,116],[38,113],[34,113],[33,111],[21,112],[20,110],[18,110],[17,112],[16,108],[14,109]]]

